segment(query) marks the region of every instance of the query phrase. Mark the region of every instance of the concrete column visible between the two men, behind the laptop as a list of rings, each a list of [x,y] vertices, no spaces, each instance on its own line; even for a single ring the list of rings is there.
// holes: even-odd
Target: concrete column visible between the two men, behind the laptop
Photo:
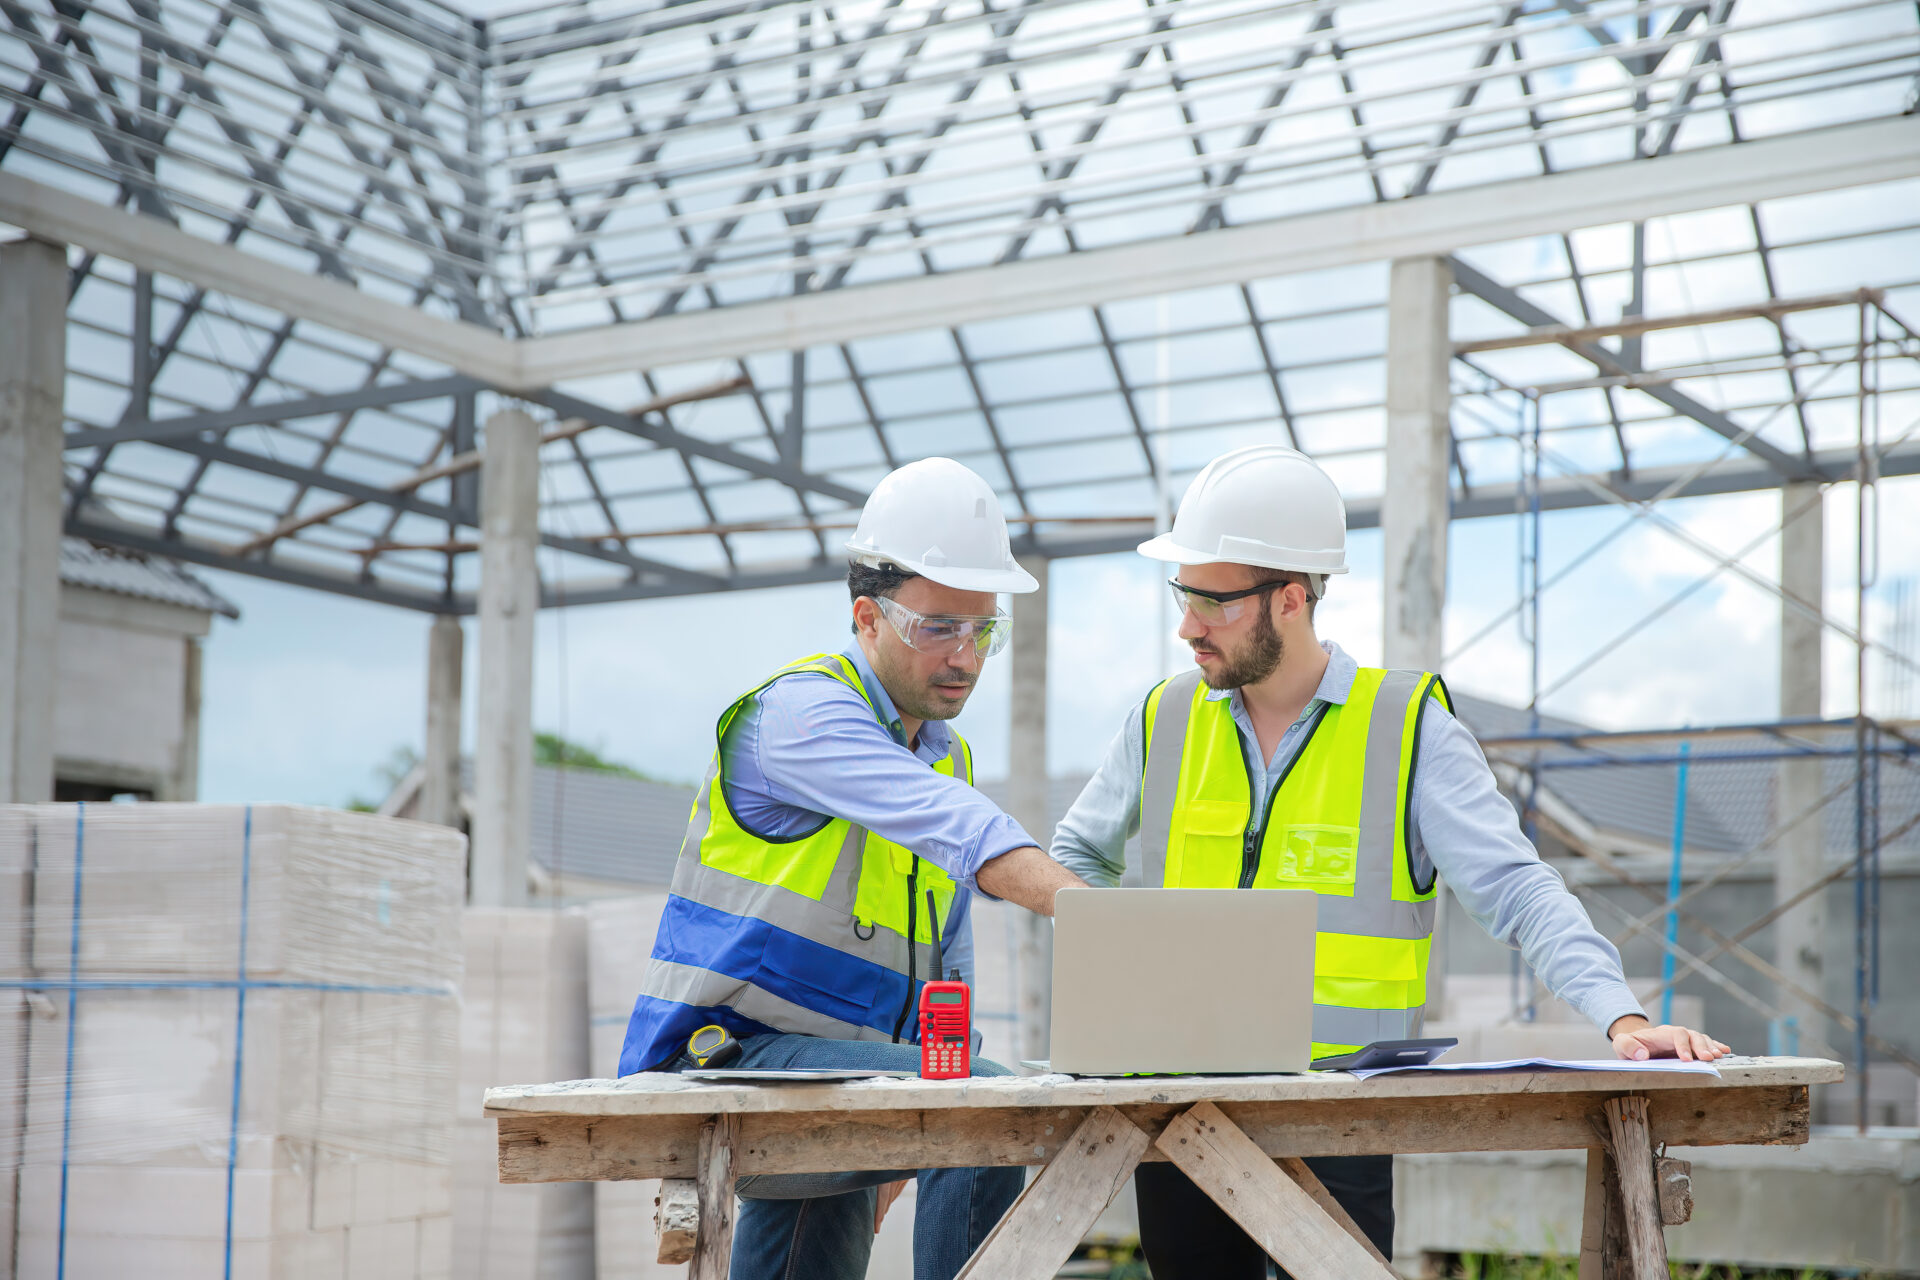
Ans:
[[[1041,583],[1014,599],[1014,647],[1010,654],[1012,733],[1006,750],[1006,808],[1043,846],[1052,839],[1046,812],[1046,558],[1021,557],[1020,564]],[[1054,923],[1033,912],[1014,910],[1020,944],[1020,1055],[1046,1057],[1046,1032],[1054,1009]]]

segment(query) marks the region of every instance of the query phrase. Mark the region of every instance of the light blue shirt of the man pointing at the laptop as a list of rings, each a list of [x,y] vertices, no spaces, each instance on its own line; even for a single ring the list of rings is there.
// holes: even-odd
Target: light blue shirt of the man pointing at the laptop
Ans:
[[[947,871],[960,889],[941,923],[941,958],[972,984],[973,875],[981,864],[1039,841],[983,793],[933,771],[952,747],[947,722],[925,722],[908,748],[900,712],[866,652],[852,645],[845,658],[874,704],[814,672],[768,685],[733,718],[720,747],[728,806],[745,827],[772,839],[845,818]]]

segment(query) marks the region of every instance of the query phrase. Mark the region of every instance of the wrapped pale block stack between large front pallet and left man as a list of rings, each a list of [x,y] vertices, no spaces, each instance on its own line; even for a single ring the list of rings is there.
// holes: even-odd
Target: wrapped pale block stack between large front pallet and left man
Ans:
[[[593,1188],[503,1184],[493,1084],[588,1073],[588,950],[580,910],[468,908],[455,1103],[453,1265],[461,1280],[589,1280]]]

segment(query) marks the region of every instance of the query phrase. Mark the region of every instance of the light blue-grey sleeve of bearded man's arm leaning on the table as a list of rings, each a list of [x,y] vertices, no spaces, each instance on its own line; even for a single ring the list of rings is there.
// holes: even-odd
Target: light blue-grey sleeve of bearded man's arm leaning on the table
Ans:
[[[1411,802],[1415,862],[1430,860],[1475,923],[1519,948],[1548,990],[1601,1031],[1644,1013],[1620,952],[1534,852],[1473,733],[1436,702],[1423,712]]]

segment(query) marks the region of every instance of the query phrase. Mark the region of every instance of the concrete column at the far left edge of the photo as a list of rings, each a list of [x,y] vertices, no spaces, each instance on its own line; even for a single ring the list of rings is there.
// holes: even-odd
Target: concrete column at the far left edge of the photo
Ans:
[[[0,802],[54,798],[67,251],[0,246]]]

